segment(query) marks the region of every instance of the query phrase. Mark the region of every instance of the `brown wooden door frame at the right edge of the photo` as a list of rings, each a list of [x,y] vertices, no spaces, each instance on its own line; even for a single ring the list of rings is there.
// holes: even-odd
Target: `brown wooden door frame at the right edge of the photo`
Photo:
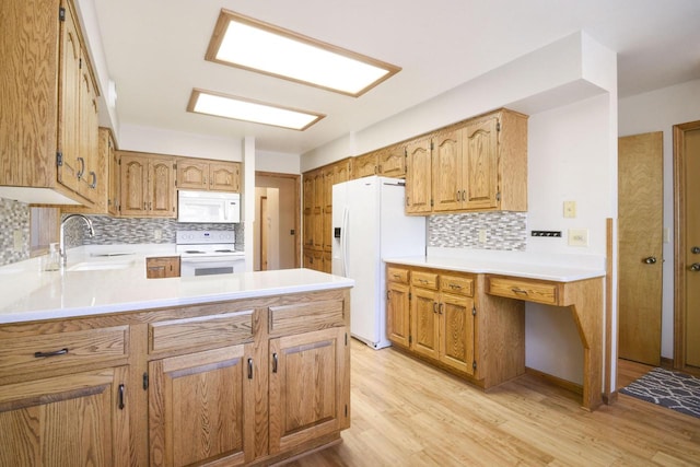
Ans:
[[[686,182],[682,148],[686,131],[700,130],[700,120],[674,125],[674,367],[687,371],[686,367]]]

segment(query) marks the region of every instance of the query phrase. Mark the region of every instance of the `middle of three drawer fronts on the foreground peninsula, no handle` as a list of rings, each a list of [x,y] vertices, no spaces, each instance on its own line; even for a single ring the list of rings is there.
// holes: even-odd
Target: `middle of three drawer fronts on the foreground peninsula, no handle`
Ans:
[[[253,311],[192,318],[170,319],[149,325],[149,352],[213,348],[253,341]]]

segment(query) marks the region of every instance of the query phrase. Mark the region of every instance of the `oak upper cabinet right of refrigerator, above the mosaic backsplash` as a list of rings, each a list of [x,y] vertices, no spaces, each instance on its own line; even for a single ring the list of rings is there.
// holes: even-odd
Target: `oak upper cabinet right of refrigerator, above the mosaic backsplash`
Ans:
[[[526,211],[527,117],[501,109],[438,131],[408,145],[407,164],[407,213]]]

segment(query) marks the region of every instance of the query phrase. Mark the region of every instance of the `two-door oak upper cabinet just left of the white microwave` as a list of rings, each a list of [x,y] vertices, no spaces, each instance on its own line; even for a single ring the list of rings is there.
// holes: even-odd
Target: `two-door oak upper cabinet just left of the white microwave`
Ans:
[[[120,215],[175,218],[175,159],[141,152],[119,152]]]

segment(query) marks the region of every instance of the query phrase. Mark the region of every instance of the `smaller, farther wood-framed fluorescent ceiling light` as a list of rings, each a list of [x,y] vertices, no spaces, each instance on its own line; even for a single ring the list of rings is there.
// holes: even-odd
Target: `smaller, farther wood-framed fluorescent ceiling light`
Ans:
[[[294,130],[305,130],[325,117],[323,114],[197,89],[192,90],[187,110]]]

